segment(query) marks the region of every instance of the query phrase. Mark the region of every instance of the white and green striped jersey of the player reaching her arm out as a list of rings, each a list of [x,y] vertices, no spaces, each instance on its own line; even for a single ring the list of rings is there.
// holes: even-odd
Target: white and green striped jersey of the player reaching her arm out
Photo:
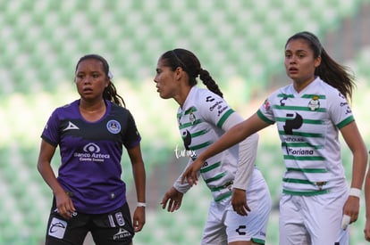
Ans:
[[[284,86],[265,100],[257,115],[276,122],[286,167],[284,193],[316,195],[345,183],[338,136],[354,118],[337,89],[320,78],[300,93]]]

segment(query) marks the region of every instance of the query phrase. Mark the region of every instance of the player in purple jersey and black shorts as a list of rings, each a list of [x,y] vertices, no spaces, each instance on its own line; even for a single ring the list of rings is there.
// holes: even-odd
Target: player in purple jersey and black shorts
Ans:
[[[54,193],[46,245],[131,244],[145,224],[146,173],[134,118],[116,93],[103,57],[80,58],[75,83],[80,99],[54,110],[41,135],[38,171]],[[59,146],[58,175],[51,159]],[[138,207],[133,217],[122,181],[122,150],[132,165]]]

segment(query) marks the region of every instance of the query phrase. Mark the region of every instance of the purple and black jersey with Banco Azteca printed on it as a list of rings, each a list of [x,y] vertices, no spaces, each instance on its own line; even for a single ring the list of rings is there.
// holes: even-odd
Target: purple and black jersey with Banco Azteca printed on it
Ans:
[[[126,202],[122,145],[130,149],[141,138],[129,110],[105,101],[103,118],[88,122],[82,118],[79,104],[77,100],[57,108],[41,137],[60,147],[62,164],[57,179],[66,192],[71,192],[77,211],[102,214]]]

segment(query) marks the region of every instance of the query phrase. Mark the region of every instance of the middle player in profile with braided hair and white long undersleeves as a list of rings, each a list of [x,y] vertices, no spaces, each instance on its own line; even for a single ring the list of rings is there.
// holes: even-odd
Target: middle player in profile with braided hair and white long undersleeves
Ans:
[[[200,78],[207,89],[199,88]],[[174,49],[157,62],[156,89],[163,99],[179,104],[177,120],[189,164],[242,118],[223,100],[223,94],[202,69],[194,53]],[[212,192],[206,228],[201,244],[265,244],[271,198],[264,177],[255,167],[258,135],[251,135],[239,145],[207,159],[200,174]],[[180,178],[162,200],[172,212],[181,207],[189,184]],[[232,197],[231,197],[232,195]],[[231,200],[232,199],[232,200]]]

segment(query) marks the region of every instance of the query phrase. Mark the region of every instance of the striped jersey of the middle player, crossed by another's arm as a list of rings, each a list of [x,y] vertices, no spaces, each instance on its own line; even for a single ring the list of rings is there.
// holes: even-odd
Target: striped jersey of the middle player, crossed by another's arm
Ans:
[[[191,159],[217,141],[223,135],[223,123],[234,110],[221,98],[208,89],[193,86],[182,108],[177,112],[180,134],[184,147],[192,152]],[[206,160],[200,169],[214,200],[219,201],[231,196],[231,182],[238,166],[239,146],[236,144]],[[228,185],[229,186],[226,186]]]

